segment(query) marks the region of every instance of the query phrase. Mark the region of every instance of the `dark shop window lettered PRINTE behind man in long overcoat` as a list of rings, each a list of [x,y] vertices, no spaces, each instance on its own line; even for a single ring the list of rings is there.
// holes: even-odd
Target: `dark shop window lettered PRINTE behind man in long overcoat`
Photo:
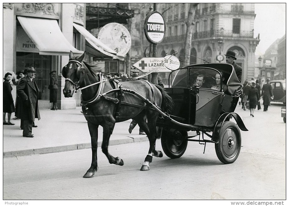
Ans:
[[[51,56],[38,53],[16,52],[16,71],[33,66],[36,70],[35,81],[39,88],[39,99],[49,100],[49,72],[51,71]]]

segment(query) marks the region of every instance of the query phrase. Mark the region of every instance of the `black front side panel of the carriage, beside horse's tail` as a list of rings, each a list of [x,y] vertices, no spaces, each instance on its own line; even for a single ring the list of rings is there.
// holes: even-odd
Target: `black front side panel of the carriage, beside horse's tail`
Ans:
[[[190,119],[190,89],[189,88],[165,88],[175,104],[172,114],[173,116],[181,117],[184,121],[179,121],[184,124],[189,124]],[[174,119],[172,117],[172,119]]]

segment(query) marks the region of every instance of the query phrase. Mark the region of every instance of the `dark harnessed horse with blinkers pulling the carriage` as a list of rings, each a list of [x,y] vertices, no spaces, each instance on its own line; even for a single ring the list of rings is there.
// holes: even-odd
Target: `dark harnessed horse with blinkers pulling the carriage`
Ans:
[[[173,108],[172,98],[159,85],[142,79],[106,79],[101,74],[95,74],[91,66],[84,62],[85,52],[75,57],[70,51],[69,61],[62,69],[65,78],[64,97],[70,98],[74,92],[80,91],[82,112],[88,124],[92,161],[91,166],[83,176],[93,177],[97,166],[98,127],[103,127],[102,152],[110,164],[123,166],[123,160],[108,152],[109,138],[115,123],[129,119],[135,120],[147,135],[150,147],[148,155],[141,166],[141,171],[150,169],[152,156],[162,157],[161,151],[155,150],[155,130],[158,109],[170,113]],[[151,108],[153,106],[153,108]]]

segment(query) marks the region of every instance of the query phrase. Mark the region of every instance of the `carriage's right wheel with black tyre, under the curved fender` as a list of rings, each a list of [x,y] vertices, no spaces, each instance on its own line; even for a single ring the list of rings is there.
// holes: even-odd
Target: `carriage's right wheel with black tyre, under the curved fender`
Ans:
[[[236,124],[226,121],[220,129],[219,143],[215,144],[218,159],[224,164],[237,160],[241,150],[241,133]]]

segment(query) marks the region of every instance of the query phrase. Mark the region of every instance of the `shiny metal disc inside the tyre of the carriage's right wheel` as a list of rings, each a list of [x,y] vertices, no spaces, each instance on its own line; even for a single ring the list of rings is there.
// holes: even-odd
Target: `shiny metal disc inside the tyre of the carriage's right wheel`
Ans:
[[[238,139],[234,129],[227,128],[223,135],[222,148],[224,155],[231,158],[236,155],[238,150]]]

